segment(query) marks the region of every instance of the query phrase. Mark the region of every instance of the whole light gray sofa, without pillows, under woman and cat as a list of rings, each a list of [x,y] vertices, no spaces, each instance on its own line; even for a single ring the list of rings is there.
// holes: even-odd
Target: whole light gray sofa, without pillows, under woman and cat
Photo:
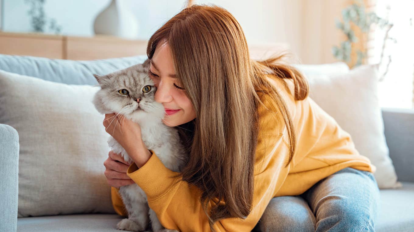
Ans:
[[[68,84],[96,85],[92,74],[106,74],[143,62],[146,56],[70,61],[0,54],[0,69]],[[0,87],[1,88],[1,87]],[[378,232],[414,231],[414,109],[382,109],[385,137],[400,189],[381,189]],[[1,113],[1,112],[0,112]],[[117,214],[74,214],[17,218],[19,135],[0,124],[0,232],[110,232]]]

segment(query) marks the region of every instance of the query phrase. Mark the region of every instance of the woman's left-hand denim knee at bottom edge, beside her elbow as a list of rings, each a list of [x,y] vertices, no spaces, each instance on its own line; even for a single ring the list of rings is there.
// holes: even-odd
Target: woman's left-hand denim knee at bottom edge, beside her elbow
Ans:
[[[315,216],[300,196],[274,197],[257,225],[261,232],[315,231]]]

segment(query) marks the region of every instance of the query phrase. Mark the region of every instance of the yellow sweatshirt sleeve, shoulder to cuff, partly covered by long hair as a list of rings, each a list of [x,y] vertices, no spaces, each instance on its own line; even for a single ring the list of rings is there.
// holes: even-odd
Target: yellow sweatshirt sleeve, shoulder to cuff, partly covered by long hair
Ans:
[[[289,148],[274,125],[271,114],[261,114],[254,167],[254,195],[252,211],[245,219],[226,218],[214,224],[217,232],[250,232],[260,220],[267,204],[273,198],[289,173]],[[270,123],[270,124],[269,124]],[[178,174],[164,166],[153,150],[141,168],[132,163],[127,175],[146,193],[149,207],[155,211],[167,229],[179,231],[211,231],[207,215],[200,202],[201,191],[194,185],[172,178]],[[207,211],[215,204],[210,201]],[[225,203],[224,203],[225,204]]]

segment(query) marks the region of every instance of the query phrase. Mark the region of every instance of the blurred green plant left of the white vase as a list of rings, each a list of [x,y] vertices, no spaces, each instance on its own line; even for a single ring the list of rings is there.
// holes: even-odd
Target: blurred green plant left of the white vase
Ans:
[[[27,12],[31,17],[31,26],[35,32],[45,32],[45,26],[48,19],[46,19],[46,14],[44,12],[43,6],[46,0],[24,0],[27,4],[30,5],[30,9]],[[54,31],[55,34],[59,34],[61,27],[56,24],[55,19],[49,19],[49,29]]]

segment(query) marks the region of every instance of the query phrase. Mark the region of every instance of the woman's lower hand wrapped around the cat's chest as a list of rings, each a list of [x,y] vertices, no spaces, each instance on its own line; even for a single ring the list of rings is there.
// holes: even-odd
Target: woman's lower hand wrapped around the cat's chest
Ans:
[[[105,176],[108,184],[112,187],[119,188],[124,185],[135,183],[128,175],[127,170],[130,163],[127,163],[120,154],[114,152],[108,153],[108,159],[103,162],[105,166]]]

